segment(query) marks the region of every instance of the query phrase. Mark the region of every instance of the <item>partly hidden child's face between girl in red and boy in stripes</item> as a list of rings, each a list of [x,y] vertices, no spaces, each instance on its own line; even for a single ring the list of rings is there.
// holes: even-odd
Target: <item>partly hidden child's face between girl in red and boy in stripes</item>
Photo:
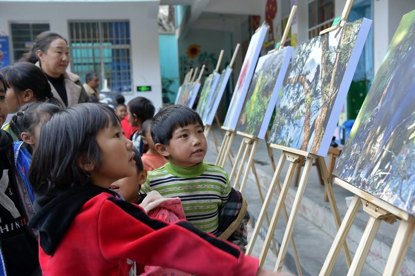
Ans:
[[[146,182],[146,179],[146,169],[142,172],[138,172],[136,169],[135,175],[115,181],[111,184],[110,189],[119,193],[125,201],[136,202],[139,198],[140,186]]]

